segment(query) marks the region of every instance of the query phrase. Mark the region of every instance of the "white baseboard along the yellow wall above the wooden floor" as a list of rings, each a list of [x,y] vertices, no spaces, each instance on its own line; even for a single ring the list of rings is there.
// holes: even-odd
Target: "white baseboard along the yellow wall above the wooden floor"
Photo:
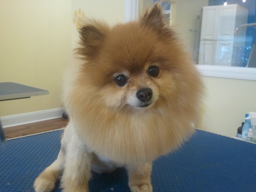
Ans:
[[[49,119],[59,118],[65,112],[63,108],[42,110],[31,113],[22,113],[11,116],[0,117],[3,128],[12,127],[16,125],[23,125],[34,123],[38,121],[45,121]]]

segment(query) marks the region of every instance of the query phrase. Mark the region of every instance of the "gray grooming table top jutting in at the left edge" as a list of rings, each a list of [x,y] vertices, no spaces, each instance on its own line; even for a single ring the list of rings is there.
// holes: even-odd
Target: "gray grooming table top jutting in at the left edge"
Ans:
[[[48,95],[49,91],[26,86],[19,83],[3,82],[0,83],[0,101],[11,99],[30,98],[38,95]]]

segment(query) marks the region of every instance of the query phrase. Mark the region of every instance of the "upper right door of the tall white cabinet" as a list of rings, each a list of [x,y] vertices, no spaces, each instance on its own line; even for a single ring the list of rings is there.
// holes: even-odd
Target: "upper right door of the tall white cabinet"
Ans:
[[[217,40],[234,40],[236,10],[236,4],[219,6]]]

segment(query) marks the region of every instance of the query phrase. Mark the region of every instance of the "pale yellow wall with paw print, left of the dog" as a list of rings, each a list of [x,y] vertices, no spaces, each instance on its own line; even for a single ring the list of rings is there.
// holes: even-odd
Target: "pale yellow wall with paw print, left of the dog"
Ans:
[[[8,0],[0,5],[0,82],[49,95],[0,102],[0,117],[62,107],[62,74],[71,56],[74,10],[110,23],[124,21],[124,0]]]

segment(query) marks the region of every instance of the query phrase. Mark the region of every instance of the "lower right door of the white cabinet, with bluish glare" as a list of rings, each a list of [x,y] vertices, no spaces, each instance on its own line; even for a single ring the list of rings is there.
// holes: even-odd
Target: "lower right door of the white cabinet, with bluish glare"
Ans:
[[[216,65],[231,66],[233,41],[216,41]]]

